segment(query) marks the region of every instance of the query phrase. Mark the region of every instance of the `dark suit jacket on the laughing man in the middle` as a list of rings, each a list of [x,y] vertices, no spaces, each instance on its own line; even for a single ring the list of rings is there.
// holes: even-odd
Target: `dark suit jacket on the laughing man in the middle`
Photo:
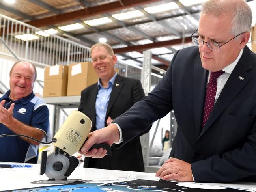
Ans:
[[[79,111],[86,114],[86,116],[92,120],[91,131],[96,130],[95,103],[97,93],[97,83],[84,89],[81,93],[81,102],[78,108]],[[107,126],[106,120],[109,116],[112,119],[115,119],[127,111],[137,101],[140,101],[144,96],[144,91],[139,80],[117,75],[108,101],[105,126]],[[148,132],[149,128],[140,135]],[[144,171],[144,162],[139,136],[135,136],[135,138],[131,139],[131,141],[127,142],[120,149],[116,149],[114,147],[112,147],[112,149],[112,156],[106,155],[101,159],[85,158],[84,167],[140,172]]]

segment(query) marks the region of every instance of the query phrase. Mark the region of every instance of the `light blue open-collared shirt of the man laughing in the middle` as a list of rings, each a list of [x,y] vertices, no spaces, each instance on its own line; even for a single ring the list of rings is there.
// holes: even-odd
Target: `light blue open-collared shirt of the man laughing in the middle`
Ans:
[[[108,101],[113,88],[114,81],[117,73],[108,82],[108,87],[103,88],[100,79],[98,80],[98,94],[96,98],[95,110],[96,110],[96,128],[101,129],[105,127],[105,117],[108,107]]]

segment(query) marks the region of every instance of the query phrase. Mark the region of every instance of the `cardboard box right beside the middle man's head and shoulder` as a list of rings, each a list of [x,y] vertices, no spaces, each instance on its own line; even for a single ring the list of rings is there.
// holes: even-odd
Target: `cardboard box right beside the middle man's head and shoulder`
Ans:
[[[96,83],[98,76],[95,73],[92,63],[72,63],[69,65],[67,95],[81,95],[81,91]]]

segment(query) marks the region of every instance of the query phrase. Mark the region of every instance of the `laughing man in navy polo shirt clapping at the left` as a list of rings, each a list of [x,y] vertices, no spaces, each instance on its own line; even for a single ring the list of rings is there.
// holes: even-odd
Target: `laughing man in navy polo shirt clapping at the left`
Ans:
[[[10,90],[0,99],[0,134],[24,134],[42,140],[49,126],[49,110],[34,95],[36,67],[28,62],[14,63],[10,71]],[[0,138],[0,161],[37,162],[38,142],[23,137]]]

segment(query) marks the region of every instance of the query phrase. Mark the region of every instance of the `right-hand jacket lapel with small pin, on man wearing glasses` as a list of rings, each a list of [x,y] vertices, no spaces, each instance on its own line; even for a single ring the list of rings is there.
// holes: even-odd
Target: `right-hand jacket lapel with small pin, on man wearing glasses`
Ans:
[[[235,98],[239,91],[243,89],[251,78],[250,74],[247,73],[247,71],[252,68],[248,51],[249,48],[245,47],[243,50],[243,55],[232,71],[228,81],[220,93],[218,100],[213,106],[213,110],[211,111],[209,119],[207,120],[201,135],[204,134],[204,132],[212,125],[217,117],[220,116],[220,114],[226,109],[230,102]],[[243,78],[243,80],[241,80],[239,77]]]

